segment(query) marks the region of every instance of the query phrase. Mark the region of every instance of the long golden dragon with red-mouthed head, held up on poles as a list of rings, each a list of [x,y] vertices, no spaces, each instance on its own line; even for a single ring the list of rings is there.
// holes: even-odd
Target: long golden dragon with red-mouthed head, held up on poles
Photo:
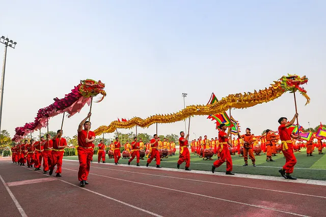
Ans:
[[[266,103],[279,98],[286,91],[294,92],[298,90],[306,99],[307,103],[310,98],[307,96],[307,91],[300,85],[306,84],[308,78],[306,76],[300,77],[298,75],[282,76],[278,81],[274,81],[270,87],[263,90],[252,92],[244,92],[244,94],[231,94],[222,98],[220,101],[210,105],[191,105],[173,114],[155,114],[146,119],[140,117],[133,117],[126,122],[112,121],[108,126],[100,126],[94,133],[100,135],[102,133],[113,133],[116,129],[129,129],[134,126],[148,128],[154,123],[172,123],[184,120],[189,116],[194,115],[210,115],[218,114],[227,111],[229,108],[249,108],[257,104]]]

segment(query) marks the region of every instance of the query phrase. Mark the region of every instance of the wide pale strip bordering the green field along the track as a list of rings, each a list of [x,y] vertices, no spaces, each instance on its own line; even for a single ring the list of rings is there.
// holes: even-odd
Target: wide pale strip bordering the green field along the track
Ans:
[[[64,161],[71,161],[71,162],[78,162],[76,160],[64,160]],[[95,163],[92,163],[95,164]],[[97,165],[97,163],[96,163]],[[114,163],[105,163],[102,165],[113,165],[114,167],[134,167],[137,169],[144,169],[145,167],[136,167],[133,165],[127,165],[127,164],[119,164],[115,165]],[[192,171],[185,171],[185,170],[178,170],[174,168],[159,168],[157,169],[156,167],[146,167],[145,169],[150,169],[150,170],[166,170],[166,171],[174,171],[174,172],[184,172],[184,173],[196,173],[196,174],[205,174],[205,175],[215,175],[215,176],[227,176],[230,177],[230,175],[226,175],[224,172],[215,172],[212,173],[211,171],[204,171],[204,170],[192,170]],[[298,178],[296,180],[291,180],[291,179],[285,179],[283,177],[277,177],[277,176],[267,176],[267,175],[251,175],[251,174],[241,174],[241,173],[236,173],[235,175],[232,176],[232,178],[252,178],[252,179],[261,179],[261,180],[268,180],[268,181],[282,181],[282,182],[293,182],[293,183],[302,183],[302,184],[314,184],[314,185],[324,185],[326,186],[326,181],[323,180],[314,180],[314,179],[303,179],[303,178]],[[230,177],[231,178],[231,177]]]

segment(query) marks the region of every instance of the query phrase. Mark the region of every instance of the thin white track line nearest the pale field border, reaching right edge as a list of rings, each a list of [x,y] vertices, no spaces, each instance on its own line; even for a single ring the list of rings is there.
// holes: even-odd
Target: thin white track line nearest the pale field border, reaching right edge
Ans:
[[[65,163],[65,164],[69,164],[69,163]],[[76,164],[70,164],[70,165],[79,166],[79,165],[76,165]],[[249,186],[246,186],[246,185],[228,184],[228,183],[222,183],[222,182],[205,181],[205,180],[191,179],[191,178],[180,178],[180,177],[165,176],[165,175],[155,175],[155,174],[149,174],[149,173],[140,173],[140,172],[132,172],[132,171],[126,171],[126,170],[108,169],[108,168],[102,168],[102,167],[92,167],[92,168],[103,169],[103,170],[113,170],[113,171],[126,172],[126,173],[135,173],[135,174],[142,174],[142,175],[151,175],[151,176],[165,177],[165,178],[174,178],[174,179],[181,179],[181,180],[187,180],[187,181],[198,181],[198,182],[212,183],[212,184],[223,184],[223,185],[228,185],[228,186],[232,186],[232,187],[248,188],[248,189],[255,189],[255,190],[264,190],[264,191],[270,191],[270,192],[287,193],[287,194],[302,195],[302,196],[309,196],[309,197],[317,197],[317,198],[326,199],[326,197],[323,197],[323,196],[308,195],[308,194],[301,194],[301,193],[295,193],[295,192],[285,192],[285,191],[279,191],[279,190],[273,190],[273,189],[263,189],[263,188],[249,187]]]

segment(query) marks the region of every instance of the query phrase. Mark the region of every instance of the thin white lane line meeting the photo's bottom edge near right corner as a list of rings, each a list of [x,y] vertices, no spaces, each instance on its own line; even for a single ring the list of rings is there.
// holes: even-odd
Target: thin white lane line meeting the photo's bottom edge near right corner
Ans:
[[[77,170],[73,170],[73,169],[68,169],[68,168],[65,168],[65,169],[66,170],[71,170],[71,171],[78,172]],[[221,200],[221,201],[225,201],[225,202],[230,202],[230,203],[236,203],[236,204],[241,204],[241,205],[246,205],[246,206],[261,208],[261,209],[268,209],[268,210],[273,210],[273,211],[287,213],[287,214],[292,214],[292,215],[297,215],[297,216],[309,217],[309,215],[302,215],[302,214],[298,214],[298,213],[294,213],[294,212],[283,211],[283,210],[279,210],[279,209],[275,209],[275,208],[269,208],[269,207],[265,207],[265,206],[253,205],[253,204],[249,204],[249,203],[242,203],[242,202],[237,202],[237,201],[233,201],[233,200],[227,200],[227,199],[218,198],[218,197],[211,197],[211,196],[197,194],[197,193],[192,193],[192,192],[185,192],[185,191],[181,191],[181,190],[177,190],[177,189],[170,189],[170,188],[160,187],[160,186],[157,186],[157,185],[141,183],[141,182],[137,182],[137,181],[130,181],[130,180],[125,180],[125,179],[121,179],[121,178],[114,178],[114,177],[105,176],[105,175],[98,175],[98,174],[95,174],[95,173],[89,173],[89,174],[91,174],[91,175],[97,175],[97,176],[101,176],[101,177],[105,177],[105,178],[111,178],[111,179],[115,179],[115,180],[119,180],[119,181],[125,181],[125,182],[136,183],[136,184],[142,184],[142,185],[146,185],[146,186],[150,186],[150,187],[154,187],[154,188],[158,188],[158,189],[164,189],[164,190],[170,190],[170,191],[175,191],[175,192],[181,192],[181,193],[185,193],[185,194],[191,194],[191,195],[196,195],[196,196],[211,198],[211,199],[215,199],[215,200]]]

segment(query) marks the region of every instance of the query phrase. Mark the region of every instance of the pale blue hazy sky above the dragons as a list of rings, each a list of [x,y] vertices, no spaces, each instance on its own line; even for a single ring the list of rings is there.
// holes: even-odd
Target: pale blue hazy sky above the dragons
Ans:
[[[326,123],[325,1],[6,1],[0,35],[8,48],[1,130],[34,121],[39,108],[63,98],[91,78],[105,83],[107,96],[92,108],[92,129],[111,121],[177,112],[207,104],[212,92],[264,89],[287,73],[306,75],[311,103],[297,96],[299,123]],[[0,53],[4,54],[1,44]],[[72,137],[89,107],[66,118]],[[242,131],[277,130],[281,116],[293,117],[293,95],[232,110]],[[191,119],[190,139],[215,137],[207,116]],[[62,115],[49,121],[61,127]],[[308,123],[309,122],[309,123]],[[184,122],[158,125],[158,134],[178,134]],[[45,132],[42,129],[42,132]],[[120,130],[122,133],[134,129]],[[138,128],[155,133],[155,125]],[[38,132],[33,134],[36,137]],[[113,137],[113,134],[105,134]]]

